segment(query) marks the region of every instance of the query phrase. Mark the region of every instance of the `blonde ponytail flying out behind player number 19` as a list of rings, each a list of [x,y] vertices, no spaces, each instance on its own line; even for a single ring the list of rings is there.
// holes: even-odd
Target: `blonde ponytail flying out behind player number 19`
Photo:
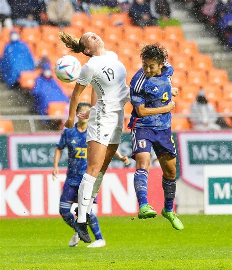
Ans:
[[[84,53],[85,45],[80,42],[81,39],[75,38],[65,32],[59,33],[59,39],[64,42],[67,48],[71,49],[71,52]]]

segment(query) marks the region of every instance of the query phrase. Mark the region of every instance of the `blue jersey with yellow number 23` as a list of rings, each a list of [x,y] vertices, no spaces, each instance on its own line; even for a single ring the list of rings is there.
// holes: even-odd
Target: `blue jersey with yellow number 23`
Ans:
[[[87,169],[87,132],[79,132],[76,125],[65,129],[57,144],[59,149],[68,147],[68,171],[66,181],[73,186],[79,186]]]

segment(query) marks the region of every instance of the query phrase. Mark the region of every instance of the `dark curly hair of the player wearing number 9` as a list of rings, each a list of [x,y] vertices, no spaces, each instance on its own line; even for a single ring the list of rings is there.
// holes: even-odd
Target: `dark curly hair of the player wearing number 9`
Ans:
[[[156,61],[159,65],[163,63],[167,58],[167,50],[159,43],[143,45],[140,53],[140,57],[143,59],[151,59]]]

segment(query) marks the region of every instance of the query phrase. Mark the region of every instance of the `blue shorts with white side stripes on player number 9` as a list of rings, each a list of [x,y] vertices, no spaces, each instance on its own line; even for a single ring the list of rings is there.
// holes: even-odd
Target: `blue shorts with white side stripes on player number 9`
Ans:
[[[131,131],[132,158],[142,152],[151,153],[153,147],[157,158],[162,154],[170,154],[176,157],[176,147],[172,136],[171,128],[165,130],[154,130],[152,128],[139,128]]]

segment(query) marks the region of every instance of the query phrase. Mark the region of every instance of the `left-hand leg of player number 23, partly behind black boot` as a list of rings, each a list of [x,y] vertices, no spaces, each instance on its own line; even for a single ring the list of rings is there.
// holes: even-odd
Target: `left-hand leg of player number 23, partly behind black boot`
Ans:
[[[75,217],[70,212],[71,205],[76,201],[77,187],[71,186],[66,181],[63,187],[62,195],[60,198],[60,214],[63,220],[70,226],[73,227]],[[78,234],[74,233],[72,236],[69,246],[75,247],[79,242]]]

